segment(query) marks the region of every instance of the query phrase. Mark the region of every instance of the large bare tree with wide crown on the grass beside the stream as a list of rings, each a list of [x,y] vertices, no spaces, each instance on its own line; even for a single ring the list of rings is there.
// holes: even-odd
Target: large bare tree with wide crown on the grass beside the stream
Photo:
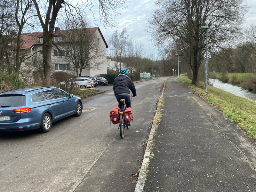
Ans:
[[[246,12],[244,0],[159,0],[148,32],[156,44],[178,45],[177,53],[184,56],[193,71],[192,84],[197,83],[200,64],[204,60],[206,30],[209,26],[208,45],[213,52],[221,43],[239,31]]]

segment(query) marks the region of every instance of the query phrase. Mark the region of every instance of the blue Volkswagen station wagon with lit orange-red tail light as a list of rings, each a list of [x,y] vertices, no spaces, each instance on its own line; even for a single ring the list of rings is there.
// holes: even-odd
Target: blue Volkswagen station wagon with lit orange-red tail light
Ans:
[[[0,132],[41,129],[70,115],[80,116],[80,97],[57,87],[22,88],[0,93]]]

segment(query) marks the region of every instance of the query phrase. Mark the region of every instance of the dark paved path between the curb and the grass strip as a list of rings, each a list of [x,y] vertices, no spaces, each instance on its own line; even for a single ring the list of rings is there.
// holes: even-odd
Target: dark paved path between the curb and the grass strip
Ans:
[[[144,189],[135,191],[256,191],[254,140],[175,79],[163,105]]]

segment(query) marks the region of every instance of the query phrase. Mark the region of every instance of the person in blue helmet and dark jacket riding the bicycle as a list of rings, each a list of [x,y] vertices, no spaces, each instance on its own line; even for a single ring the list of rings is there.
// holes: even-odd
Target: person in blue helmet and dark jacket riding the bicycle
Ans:
[[[118,101],[118,107],[122,108],[123,104],[120,99],[125,99],[126,107],[131,107],[130,90],[132,91],[132,97],[137,96],[136,89],[132,80],[126,75],[127,70],[121,69],[120,74],[115,78],[113,84],[113,90]]]

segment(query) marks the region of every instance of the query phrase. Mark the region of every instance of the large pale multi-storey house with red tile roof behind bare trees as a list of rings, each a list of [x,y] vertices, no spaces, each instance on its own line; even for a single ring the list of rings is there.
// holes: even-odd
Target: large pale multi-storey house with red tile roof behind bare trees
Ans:
[[[106,48],[108,48],[108,44],[99,27],[87,28],[87,31],[93,41],[96,41],[97,50],[90,53],[95,54],[95,57],[93,60],[88,61],[90,67],[83,69],[81,76],[97,76],[100,74],[106,74]],[[70,55],[70,52],[67,49],[67,44],[70,43],[67,36],[70,32],[71,30],[60,30],[60,28],[57,27],[54,30],[52,39],[51,73],[65,71],[76,76],[74,65],[69,59],[67,59]],[[22,34],[21,39],[21,52],[30,55],[30,57],[22,63],[22,69],[26,69],[25,71],[27,71],[27,73],[30,72],[33,74],[35,80],[38,71],[42,70],[43,32]],[[74,42],[74,44],[76,44],[76,42]]]

